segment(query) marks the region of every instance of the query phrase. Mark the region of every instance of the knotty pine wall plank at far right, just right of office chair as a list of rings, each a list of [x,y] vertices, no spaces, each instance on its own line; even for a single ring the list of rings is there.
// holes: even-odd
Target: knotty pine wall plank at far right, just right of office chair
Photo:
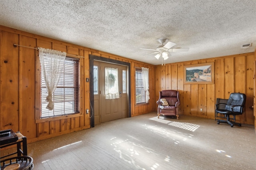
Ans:
[[[253,55],[246,56],[246,105],[245,121],[254,124],[253,102],[254,102],[254,60]]]

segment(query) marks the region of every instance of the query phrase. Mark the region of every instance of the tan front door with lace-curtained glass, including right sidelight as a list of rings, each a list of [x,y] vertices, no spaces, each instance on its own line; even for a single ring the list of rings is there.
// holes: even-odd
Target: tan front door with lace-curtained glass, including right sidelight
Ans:
[[[127,66],[95,62],[99,93],[94,94],[95,124],[128,116]]]

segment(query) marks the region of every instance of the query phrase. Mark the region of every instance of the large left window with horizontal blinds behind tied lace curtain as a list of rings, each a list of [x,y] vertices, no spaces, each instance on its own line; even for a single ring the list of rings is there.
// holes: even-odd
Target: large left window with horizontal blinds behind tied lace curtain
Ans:
[[[45,101],[47,94],[44,77],[41,72],[41,113],[40,118],[55,117],[79,113],[80,108],[80,74],[79,59],[66,57],[64,63],[64,72],[60,77],[58,86],[54,92],[54,109],[48,110]]]

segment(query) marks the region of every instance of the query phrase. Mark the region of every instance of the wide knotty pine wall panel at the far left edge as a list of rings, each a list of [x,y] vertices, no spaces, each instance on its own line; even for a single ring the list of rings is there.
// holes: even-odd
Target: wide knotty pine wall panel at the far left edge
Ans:
[[[1,129],[19,131],[19,36],[1,31]]]

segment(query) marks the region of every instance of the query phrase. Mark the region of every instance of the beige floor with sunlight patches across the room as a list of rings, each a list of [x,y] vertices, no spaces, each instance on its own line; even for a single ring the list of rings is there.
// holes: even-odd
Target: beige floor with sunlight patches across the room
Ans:
[[[31,143],[35,170],[255,170],[256,134],[213,119],[148,113]],[[1,153],[2,155],[2,153]]]

